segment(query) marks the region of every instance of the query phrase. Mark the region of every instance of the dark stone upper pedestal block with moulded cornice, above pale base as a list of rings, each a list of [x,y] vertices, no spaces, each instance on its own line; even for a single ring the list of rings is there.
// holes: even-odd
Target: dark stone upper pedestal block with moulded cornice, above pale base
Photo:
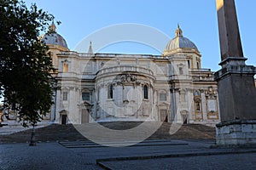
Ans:
[[[221,122],[256,120],[256,88],[253,65],[245,65],[246,58],[229,57],[214,73],[218,82],[218,99]]]

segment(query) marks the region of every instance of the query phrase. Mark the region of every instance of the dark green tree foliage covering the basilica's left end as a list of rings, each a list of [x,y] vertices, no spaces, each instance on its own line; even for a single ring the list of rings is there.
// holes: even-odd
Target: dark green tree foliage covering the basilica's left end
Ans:
[[[39,122],[52,105],[54,68],[38,37],[53,19],[36,4],[0,1],[0,94],[6,105],[15,104],[23,126]]]

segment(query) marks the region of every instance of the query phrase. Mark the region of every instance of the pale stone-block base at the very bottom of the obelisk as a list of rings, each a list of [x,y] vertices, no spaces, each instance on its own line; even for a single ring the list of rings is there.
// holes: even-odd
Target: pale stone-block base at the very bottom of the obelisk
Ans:
[[[216,125],[216,144],[256,146],[256,120],[235,120]]]

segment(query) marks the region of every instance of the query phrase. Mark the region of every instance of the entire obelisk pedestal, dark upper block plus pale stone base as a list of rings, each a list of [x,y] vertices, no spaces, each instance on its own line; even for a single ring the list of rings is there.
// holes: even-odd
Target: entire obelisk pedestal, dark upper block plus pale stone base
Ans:
[[[221,122],[216,125],[216,144],[220,146],[256,145],[255,67],[245,58],[229,57],[214,74],[218,82]]]

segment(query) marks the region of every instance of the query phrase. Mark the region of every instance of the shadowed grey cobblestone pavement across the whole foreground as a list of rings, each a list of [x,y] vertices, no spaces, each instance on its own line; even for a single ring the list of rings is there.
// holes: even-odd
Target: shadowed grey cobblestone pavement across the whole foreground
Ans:
[[[148,140],[128,147],[88,141],[1,144],[0,169],[255,169],[256,149],[209,149],[213,140]]]

